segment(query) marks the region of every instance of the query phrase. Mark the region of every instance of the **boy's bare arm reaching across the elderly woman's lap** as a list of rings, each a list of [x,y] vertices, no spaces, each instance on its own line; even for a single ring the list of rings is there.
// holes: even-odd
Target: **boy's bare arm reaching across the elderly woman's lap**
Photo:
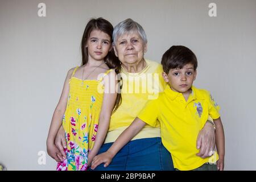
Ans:
[[[93,158],[91,168],[94,169],[101,163],[105,163],[104,167],[109,166],[117,152],[121,150],[126,143],[133,139],[133,137],[135,137],[135,135],[137,135],[145,125],[146,123],[141,119],[135,118],[133,123],[131,123],[131,125],[127,127],[125,131],[123,131],[123,133],[117,138],[117,140],[115,140],[108,151]]]

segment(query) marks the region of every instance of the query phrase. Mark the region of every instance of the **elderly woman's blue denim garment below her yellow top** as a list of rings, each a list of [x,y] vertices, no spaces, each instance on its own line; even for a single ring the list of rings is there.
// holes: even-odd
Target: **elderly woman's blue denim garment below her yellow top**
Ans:
[[[98,154],[107,151],[113,143],[103,144]],[[170,152],[166,150],[161,138],[143,138],[127,143],[114,156],[112,163],[104,163],[94,171],[173,171]]]

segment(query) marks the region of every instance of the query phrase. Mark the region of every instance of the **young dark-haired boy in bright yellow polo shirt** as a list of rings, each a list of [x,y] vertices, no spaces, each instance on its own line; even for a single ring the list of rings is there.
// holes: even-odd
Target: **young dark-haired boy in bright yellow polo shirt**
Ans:
[[[108,151],[93,159],[92,169],[100,163],[108,166],[115,154],[146,124],[156,126],[158,120],[161,125],[162,143],[171,152],[177,170],[224,169],[224,129],[218,105],[207,90],[192,86],[197,68],[195,54],[187,47],[172,46],[164,53],[161,63],[163,78],[168,83],[166,89],[158,99],[148,101],[138,117]],[[213,118],[216,126],[218,154],[215,152],[212,157],[203,159],[196,155],[199,152],[196,139],[205,122],[208,122],[208,115]]]

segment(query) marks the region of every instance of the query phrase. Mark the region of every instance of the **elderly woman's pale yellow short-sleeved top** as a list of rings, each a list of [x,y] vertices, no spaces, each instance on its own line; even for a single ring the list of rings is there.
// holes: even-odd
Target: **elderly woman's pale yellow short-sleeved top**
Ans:
[[[147,66],[139,73],[128,73],[121,68],[122,76],[122,104],[112,114],[109,131],[104,143],[114,142],[137,117],[148,100],[158,98],[163,92],[164,82],[162,65],[155,61],[145,60]],[[134,139],[160,137],[160,125],[158,127],[145,126]]]

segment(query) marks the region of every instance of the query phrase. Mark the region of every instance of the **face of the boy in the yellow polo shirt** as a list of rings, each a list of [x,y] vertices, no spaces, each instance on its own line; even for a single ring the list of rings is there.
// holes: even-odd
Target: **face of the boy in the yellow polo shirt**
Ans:
[[[186,93],[196,79],[196,71],[193,64],[189,63],[182,69],[170,69],[168,75],[163,72],[163,78],[175,92]]]

